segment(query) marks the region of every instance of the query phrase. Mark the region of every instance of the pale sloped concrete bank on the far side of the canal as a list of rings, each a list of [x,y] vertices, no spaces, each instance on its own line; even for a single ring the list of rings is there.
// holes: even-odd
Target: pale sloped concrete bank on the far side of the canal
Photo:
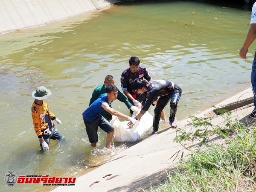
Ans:
[[[117,0],[0,0],[0,34],[46,25],[90,11]]]

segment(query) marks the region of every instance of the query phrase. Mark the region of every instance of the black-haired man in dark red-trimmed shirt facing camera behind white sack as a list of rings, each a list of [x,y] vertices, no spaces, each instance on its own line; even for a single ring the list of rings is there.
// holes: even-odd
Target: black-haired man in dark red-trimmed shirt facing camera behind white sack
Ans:
[[[140,66],[140,59],[135,56],[131,56],[129,60],[129,68],[126,69],[121,75],[121,87],[122,91],[127,96],[128,101],[138,106],[143,101],[143,97],[145,97],[145,93],[141,94],[137,90],[133,88],[133,81],[136,79],[146,79],[147,81],[151,81],[152,78],[148,73],[148,70]],[[142,103],[143,104],[143,103]],[[154,98],[152,105],[157,104],[157,98]],[[130,112],[132,113],[131,109]],[[161,118],[165,121],[166,116],[164,110],[161,112]]]

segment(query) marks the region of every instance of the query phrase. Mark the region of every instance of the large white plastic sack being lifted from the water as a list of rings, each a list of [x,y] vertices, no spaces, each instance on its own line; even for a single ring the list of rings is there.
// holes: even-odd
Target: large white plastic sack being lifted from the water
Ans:
[[[137,116],[137,113],[134,112],[132,117]],[[128,128],[128,122],[120,122],[117,116],[112,116],[110,123],[115,127],[114,138],[117,142],[130,141],[135,142],[141,138],[141,136],[148,131],[153,125],[153,116],[146,112],[140,119],[138,125],[134,125],[133,128]]]

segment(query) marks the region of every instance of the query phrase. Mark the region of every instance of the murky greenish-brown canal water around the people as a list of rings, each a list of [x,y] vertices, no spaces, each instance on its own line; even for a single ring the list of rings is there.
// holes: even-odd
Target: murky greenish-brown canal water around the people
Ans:
[[[250,10],[234,3],[203,2],[129,3],[1,35],[0,190],[9,189],[4,183],[8,170],[78,177],[134,145],[114,142],[108,151],[106,134],[99,130],[98,145],[92,149],[81,115],[106,75],[113,75],[121,90],[120,75],[131,55],[140,58],[153,79],[170,79],[182,88],[177,121],[250,87],[255,44],[246,60],[239,57]],[[49,109],[62,121],[57,128],[66,138],[65,143],[52,141],[48,153],[39,150],[30,110],[31,93],[41,85],[52,91]],[[112,106],[129,114],[119,101]],[[168,106],[165,111],[168,117]],[[160,122],[160,130],[164,128]],[[49,189],[42,184],[12,188]]]

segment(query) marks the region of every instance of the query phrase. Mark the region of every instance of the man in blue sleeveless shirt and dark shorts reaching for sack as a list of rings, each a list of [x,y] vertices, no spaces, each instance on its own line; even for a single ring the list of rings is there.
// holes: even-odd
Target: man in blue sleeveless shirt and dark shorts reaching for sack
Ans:
[[[137,124],[137,120],[127,116],[125,114],[120,113],[119,111],[115,111],[109,105],[112,101],[117,98],[118,89],[114,84],[108,84],[106,87],[106,93],[100,95],[96,101],[94,101],[83,113],[84,124],[86,128],[87,135],[89,137],[89,141],[93,147],[96,147],[98,142],[98,126],[107,133],[107,145],[108,149],[111,148],[111,142],[113,139],[113,133],[115,128],[110,124],[103,116],[101,116],[101,112],[103,110],[111,113],[112,115],[118,116],[120,118],[130,120],[129,124],[132,123]]]

